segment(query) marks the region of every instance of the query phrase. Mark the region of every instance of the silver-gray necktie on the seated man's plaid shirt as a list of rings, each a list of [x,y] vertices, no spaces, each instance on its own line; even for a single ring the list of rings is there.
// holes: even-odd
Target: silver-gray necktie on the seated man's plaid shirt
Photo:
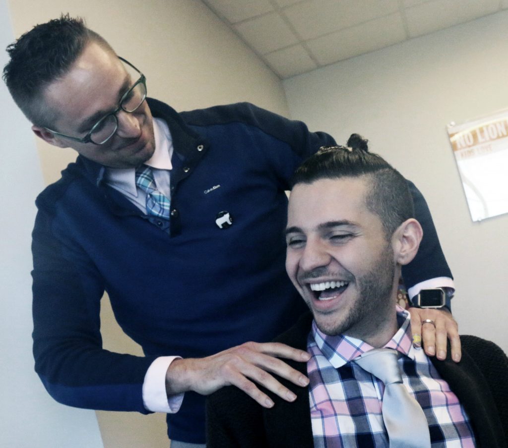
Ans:
[[[390,448],[429,448],[429,426],[422,407],[402,384],[397,351],[374,349],[354,360],[385,383],[383,421]]]

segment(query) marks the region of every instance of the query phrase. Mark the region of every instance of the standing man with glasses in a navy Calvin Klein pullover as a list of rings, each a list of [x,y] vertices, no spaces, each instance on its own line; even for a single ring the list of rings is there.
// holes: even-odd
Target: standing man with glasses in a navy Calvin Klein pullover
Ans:
[[[177,113],[147,99],[141,71],[80,19],[38,25],[8,52],[4,79],[34,133],[79,154],[37,199],[34,355],[49,393],[79,407],[167,412],[170,438],[199,444],[203,395],[222,386],[267,407],[256,384],[294,400],[266,372],[305,386],[278,358],[308,355],[258,342],[303,312],[284,273],[284,190],[332,137],[248,104]],[[412,192],[428,236],[406,286],[451,287],[425,200]],[[104,291],[144,357],[102,349]],[[451,315],[420,316],[438,329],[423,326],[426,350],[442,356],[448,331],[460,357]]]

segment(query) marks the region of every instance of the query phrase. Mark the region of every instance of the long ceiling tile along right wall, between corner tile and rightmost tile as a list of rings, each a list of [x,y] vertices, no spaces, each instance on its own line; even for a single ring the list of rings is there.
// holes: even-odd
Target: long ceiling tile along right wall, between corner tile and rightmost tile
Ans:
[[[402,18],[395,13],[308,41],[306,45],[320,64],[327,65],[404,39]]]

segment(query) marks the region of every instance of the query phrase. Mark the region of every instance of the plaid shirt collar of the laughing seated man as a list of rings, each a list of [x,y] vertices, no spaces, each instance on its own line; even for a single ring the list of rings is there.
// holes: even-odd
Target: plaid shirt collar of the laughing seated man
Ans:
[[[395,349],[403,355],[414,359],[415,348],[412,346],[411,340],[411,315],[399,305],[396,306],[399,329],[384,348]],[[367,342],[351,336],[342,334],[329,336],[317,328],[315,321],[312,321],[311,336],[317,347],[335,368],[342,367],[361,354],[374,349]]]

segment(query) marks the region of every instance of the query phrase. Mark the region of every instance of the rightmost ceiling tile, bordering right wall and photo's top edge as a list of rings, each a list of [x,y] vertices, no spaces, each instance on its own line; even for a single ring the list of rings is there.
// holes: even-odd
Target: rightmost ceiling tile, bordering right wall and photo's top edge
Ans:
[[[499,10],[499,0],[434,0],[405,11],[410,37],[464,23]]]

